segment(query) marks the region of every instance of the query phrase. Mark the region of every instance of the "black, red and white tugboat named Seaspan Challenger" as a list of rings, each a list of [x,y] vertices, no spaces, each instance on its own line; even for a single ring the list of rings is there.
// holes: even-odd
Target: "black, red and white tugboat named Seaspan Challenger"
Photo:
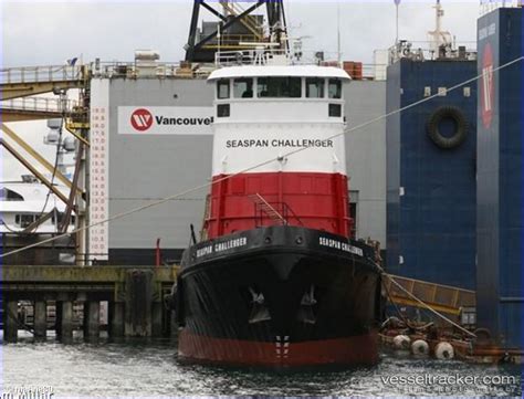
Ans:
[[[375,364],[380,274],[374,249],[350,238],[348,214],[350,77],[271,50],[229,61],[208,78],[213,176],[201,241],[193,234],[174,287],[179,357]]]

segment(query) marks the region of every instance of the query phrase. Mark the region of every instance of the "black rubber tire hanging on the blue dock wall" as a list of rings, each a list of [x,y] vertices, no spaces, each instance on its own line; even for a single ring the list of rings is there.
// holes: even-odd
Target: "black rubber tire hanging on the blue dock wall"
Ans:
[[[439,130],[439,124],[444,119],[455,123],[455,130],[451,137],[443,136]],[[450,149],[460,146],[468,137],[468,122],[464,114],[457,107],[442,106],[437,108],[428,119],[429,138],[440,148]]]

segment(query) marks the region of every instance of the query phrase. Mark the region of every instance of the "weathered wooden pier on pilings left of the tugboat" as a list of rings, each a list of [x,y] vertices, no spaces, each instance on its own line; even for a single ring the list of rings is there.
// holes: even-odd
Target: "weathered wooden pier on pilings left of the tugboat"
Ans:
[[[177,267],[149,266],[2,266],[3,340],[13,343],[19,329],[45,339],[54,328],[63,342],[82,328],[84,338],[96,339],[102,329],[108,336],[168,337],[171,311],[164,305],[177,276]],[[31,325],[20,304],[32,303]],[[106,322],[101,317],[107,303]],[[53,313],[54,322],[49,316]],[[82,315],[82,319],[80,319]]]

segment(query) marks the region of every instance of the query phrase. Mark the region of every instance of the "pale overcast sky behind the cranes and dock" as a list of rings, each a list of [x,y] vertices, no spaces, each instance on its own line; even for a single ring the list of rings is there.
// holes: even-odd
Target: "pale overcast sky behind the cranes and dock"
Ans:
[[[474,48],[479,1],[441,1],[443,28],[457,42]],[[396,7],[388,1],[284,0],[290,35],[303,38],[304,52],[323,50],[336,59],[337,20],[342,59],[373,63],[374,50],[395,43]],[[434,27],[434,1],[402,0],[399,38],[421,42]],[[62,65],[78,56],[85,63],[133,61],[136,49],[153,49],[160,61],[184,59],[191,18],[191,0],[171,1],[9,1],[0,0],[2,67]],[[214,18],[205,12],[206,20]],[[337,18],[337,15],[339,15]],[[423,45],[423,44],[421,44]],[[44,146],[45,122],[11,125],[44,157],[54,161],[54,149]],[[2,148],[1,180],[25,172]]]

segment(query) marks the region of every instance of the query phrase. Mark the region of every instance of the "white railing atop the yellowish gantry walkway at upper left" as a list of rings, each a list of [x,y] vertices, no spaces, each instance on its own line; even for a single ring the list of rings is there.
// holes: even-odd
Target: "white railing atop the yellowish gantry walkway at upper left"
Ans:
[[[0,69],[0,84],[80,81],[82,66],[48,65]]]

